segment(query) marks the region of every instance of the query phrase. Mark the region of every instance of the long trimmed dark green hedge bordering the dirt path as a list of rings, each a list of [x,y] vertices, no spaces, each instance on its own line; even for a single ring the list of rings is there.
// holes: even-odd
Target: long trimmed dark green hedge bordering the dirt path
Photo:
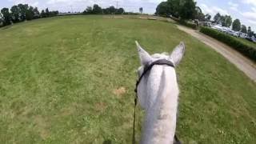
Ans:
[[[245,43],[238,41],[238,39],[234,38],[233,36],[223,34],[218,30],[202,27],[200,32],[209,35],[212,38],[218,39],[218,41],[226,43],[226,45],[233,47],[235,50],[238,50],[240,53],[256,62],[256,48],[248,46]]]

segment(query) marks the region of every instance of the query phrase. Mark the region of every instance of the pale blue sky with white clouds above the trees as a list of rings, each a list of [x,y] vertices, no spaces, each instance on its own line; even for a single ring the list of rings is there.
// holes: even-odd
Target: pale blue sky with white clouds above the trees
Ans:
[[[18,3],[37,6],[39,10],[83,11],[87,6],[97,3],[103,8],[108,6],[123,7],[126,11],[138,12],[143,7],[144,13],[154,14],[156,7],[163,0],[0,0],[0,9],[10,8]],[[256,31],[256,0],[195,0],[204,14],[228,14],[233,20],[238,18],[246,26]]]

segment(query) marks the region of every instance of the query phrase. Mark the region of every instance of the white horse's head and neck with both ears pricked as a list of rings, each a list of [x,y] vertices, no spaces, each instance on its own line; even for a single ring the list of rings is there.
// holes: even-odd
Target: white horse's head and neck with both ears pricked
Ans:
[[[185,52],[183,42],[171,54],[153,54],[152,56],[143,50],[138,42],[136,44],[142,64],[138,69],[139,77],[146,65],[159,59],[166,59],[174,66],[178,66]],[[138,102],[142,109],[146,110],[141,143],[173,143],[178,107],[178,82],[174,67],[153,66],[138,85]]]

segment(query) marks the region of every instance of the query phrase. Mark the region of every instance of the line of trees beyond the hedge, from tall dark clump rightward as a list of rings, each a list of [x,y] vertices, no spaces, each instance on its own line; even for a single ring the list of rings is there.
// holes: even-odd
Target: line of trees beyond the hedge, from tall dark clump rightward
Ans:
[[[180,18],[181,20],[198,19],[201,22],[210,22],[211,15],[203,14],[199,6],[196,6],[194,0],[167,0],[166,2],[161,2],[158,4],[155,14]],[[249,36],[254,35],[254,31],[251,27],[248,30],[245,25],[241,25],[239,19],[232,21],[230,15],[216,14],[214,16],[214,23],[221,24],[225,27],[232,26],[232,30],[241,31],[242,33],[249,34]]]

